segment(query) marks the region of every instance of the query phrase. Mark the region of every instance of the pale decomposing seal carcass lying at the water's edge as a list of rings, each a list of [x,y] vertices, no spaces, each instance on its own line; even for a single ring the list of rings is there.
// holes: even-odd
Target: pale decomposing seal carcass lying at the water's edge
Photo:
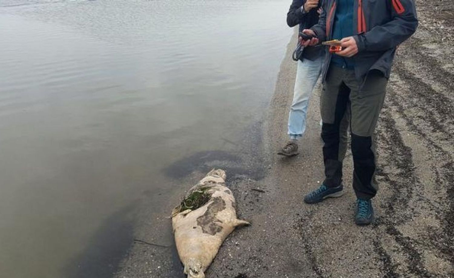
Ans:
[[[224,239],[238,225],[249,224],[237,219],[235,198],[226,187],[225,178],[223,170],[210,171],[186,195],[188,198],[194,192],[202,192],[207,202],[198,208],[186,210],[182,202],[172,211],[175,243],[188,278],[204,278],[205,270]]]

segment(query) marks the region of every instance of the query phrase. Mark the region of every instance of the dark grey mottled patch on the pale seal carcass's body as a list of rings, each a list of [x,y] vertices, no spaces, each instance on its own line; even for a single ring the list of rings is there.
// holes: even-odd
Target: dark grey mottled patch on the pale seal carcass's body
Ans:
[[[210,205],[208,205],[207,211],[203,215],[197,218],[197,225],[202,228],[204,234],[215,235],[222,231],[222,226],[217,223],[222,223],[221,220],[216,218],[216,214],[219,211],[225,210],[226,202],[221,197],[214,197]]]

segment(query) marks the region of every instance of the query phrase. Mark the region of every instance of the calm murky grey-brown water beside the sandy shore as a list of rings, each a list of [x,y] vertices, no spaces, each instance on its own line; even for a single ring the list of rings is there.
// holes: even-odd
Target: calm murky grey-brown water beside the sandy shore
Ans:
[[[1,0],[0,276],[68,277],[118,211],[167,205],[163,169],[231,148],[271,97],[289,4]]]

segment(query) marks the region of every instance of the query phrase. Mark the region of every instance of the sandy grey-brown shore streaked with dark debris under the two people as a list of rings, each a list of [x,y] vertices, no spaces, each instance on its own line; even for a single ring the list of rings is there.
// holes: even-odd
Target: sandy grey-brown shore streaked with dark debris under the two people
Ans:
[[[317,205],[302,201],[323,180],[320,86],[311,99],[301,154],[275,155],[286,141],[296,73],[293,38],[264,122],[242,144],[242,164],[263,175],[231,173],[228,180],[240,218],[252,225],[227,238],[208,278],[454,277],[453,14],[448,1],[434,7],[416,2],[421,24],[399,48],[376,133],[375,222],[353,223],[350,151],[346,194]],[[434,27],[440,24],[442,31]],[[136,244],[116,277],[184,276],[173,246]]]

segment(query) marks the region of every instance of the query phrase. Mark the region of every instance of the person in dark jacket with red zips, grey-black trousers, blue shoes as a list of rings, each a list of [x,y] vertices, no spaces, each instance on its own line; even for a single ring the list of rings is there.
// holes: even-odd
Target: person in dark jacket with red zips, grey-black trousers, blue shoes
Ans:
[[[417,26],[413,0],[326,0],[318,24],[303,30],[317,36],[303,41],[303,45],[339,39],[342,47],[335,54],[326,53],[322,69],[325,180],[306,195],[306,203],[342,195],[339,125],[344,112],[350,109],[353,188],[357,197],[355,223],[366,225],[372,221],[371,199],[377,193],[373,133],[385,100],[396,47]],[[350,93],[339,90],[345,86]]]

